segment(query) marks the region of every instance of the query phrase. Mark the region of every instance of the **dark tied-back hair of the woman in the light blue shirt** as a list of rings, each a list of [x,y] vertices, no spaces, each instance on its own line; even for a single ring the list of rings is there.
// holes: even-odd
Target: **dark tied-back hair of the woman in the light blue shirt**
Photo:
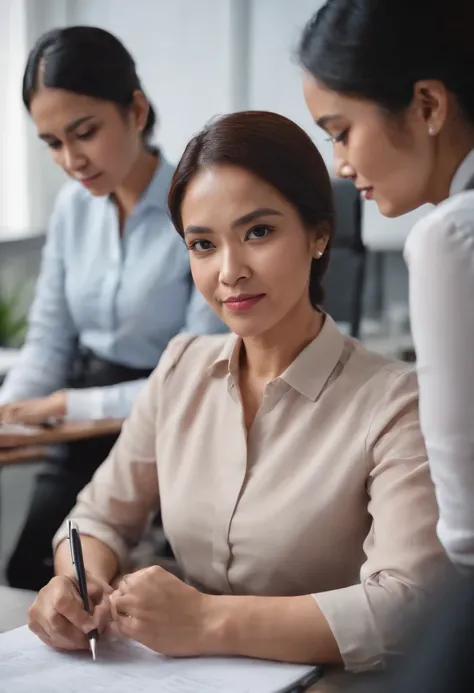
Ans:
[[[28,110],[41,84],[112,101],[122,109],[131,106],[134,91],[142,89],[125,46],[108,31],[92,26],[53,29],[38,39],[23,75],[23,103]],[[155,123],[155,110],[149,104],[145,140]]]

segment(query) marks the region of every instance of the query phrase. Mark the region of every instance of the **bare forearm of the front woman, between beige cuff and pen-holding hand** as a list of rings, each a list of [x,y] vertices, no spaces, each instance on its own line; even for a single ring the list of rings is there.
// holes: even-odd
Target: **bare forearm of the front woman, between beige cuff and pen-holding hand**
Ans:
[[[81,544],[87,572],[110,584],[119,569],[119,562],[115,553],[107,544],[88,535],[81,535]],[[74,575],[67,539],[63,539],[56,549],[54,571],[56,575]]]

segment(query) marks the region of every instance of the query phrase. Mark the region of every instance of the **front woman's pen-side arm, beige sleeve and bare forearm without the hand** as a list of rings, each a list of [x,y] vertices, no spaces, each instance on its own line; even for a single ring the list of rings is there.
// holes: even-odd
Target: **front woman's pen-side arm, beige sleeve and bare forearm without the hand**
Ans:
[[[123,570],[150,512],[158,507],[155,438],[160,372],[147,382],[107,460],[83,489],[71,512],[81,532],[88,572],[110,582]],[[66,521],[54,538],[55,569],[72,572]]]

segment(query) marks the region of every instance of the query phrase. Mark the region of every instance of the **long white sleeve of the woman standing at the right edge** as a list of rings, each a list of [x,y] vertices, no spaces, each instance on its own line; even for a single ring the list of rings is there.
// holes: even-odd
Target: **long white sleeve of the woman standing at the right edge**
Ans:
[[[473,210],[474,211],[474,210]],[[474,222],[434,217],[406,248],[420,421],[453,562],[474,566]]]

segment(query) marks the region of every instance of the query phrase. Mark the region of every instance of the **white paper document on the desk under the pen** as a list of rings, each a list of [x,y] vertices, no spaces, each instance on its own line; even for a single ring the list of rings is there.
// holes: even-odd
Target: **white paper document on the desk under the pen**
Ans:
[[[313,667],[253,659],[171,659],[130,640],[56,652],[25,626],[0,635],[0,693],[280,693]]]

